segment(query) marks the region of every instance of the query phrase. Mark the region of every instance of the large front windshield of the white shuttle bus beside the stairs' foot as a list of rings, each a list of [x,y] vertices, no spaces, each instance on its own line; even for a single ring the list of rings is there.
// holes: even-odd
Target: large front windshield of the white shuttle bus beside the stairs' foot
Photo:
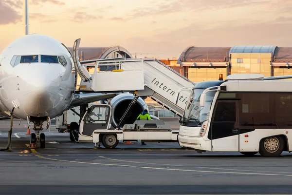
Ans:
[[[183,114],[183,120],[188,122],[196,122],[201,124],[208,119],[210,115],[211,105],[216,91],[209,91],[206,94],[206,102],[204,107],[200,106],[200,97],[204,89],[194,89],[188,100]]]

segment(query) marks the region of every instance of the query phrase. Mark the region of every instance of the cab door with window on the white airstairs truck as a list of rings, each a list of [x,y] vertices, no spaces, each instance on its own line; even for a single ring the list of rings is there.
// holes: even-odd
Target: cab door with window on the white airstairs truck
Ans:
[[[83,135],[91,136],[94,130],[107,130],[111,122],[110,105],[94,105],[83,119]]]

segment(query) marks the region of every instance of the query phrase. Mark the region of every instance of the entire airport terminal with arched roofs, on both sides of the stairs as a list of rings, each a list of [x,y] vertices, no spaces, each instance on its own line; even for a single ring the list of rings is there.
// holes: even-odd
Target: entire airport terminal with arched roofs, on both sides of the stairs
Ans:
[[[73,48],[69,48],[72,52]],[[119,45],[111,47],[80,47],[80,59],[133,58]],[[193,82],[217,80],[219,74],[260,73],[265,77],[292,75],[292,47],[233,46],[185,48],[179,59],[160,59]],[[93,67],[93,66],[92,66]],[[110,67],[105,67],[110,69]],[[92,74],[94,69],[89,66]],[[80,77],[77,83],[80,83]],[[78,87],[78,86],[77,86]],[[146,99],[149,113],[157,117],[177,117],[150,98]]]

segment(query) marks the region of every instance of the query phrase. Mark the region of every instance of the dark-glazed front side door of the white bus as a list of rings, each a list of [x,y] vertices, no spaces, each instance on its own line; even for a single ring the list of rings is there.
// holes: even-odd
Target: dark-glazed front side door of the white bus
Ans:
[[[238,105],[238,100],[218,100],[216,102],[211,122],[212,151],[239,151]]]

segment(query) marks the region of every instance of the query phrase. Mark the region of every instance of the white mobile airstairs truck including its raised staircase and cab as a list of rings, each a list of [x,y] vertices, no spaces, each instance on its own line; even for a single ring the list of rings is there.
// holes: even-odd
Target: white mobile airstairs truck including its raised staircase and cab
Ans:
[[[137,99],[147,96],[182,117],[195,83],[157,59],[98,60],[94,73],[90,75],[77,58],[79,43],[80,39],[77,39],[73,48],[75,68],[82,78],[79,92],[134,94],[132,102],[114,130],[110,125],[111,106],[91,104],[80,121],[79,142],[93,142],[95,146],[102,142],[106,148],[114,148],[119,140],[158,142],[178,140],[179,130],[172,130],[169,125],[160,120],[136,120],[133,124],[123,123]],[[100,71],[101,66],[114,68],[111,71]]]

